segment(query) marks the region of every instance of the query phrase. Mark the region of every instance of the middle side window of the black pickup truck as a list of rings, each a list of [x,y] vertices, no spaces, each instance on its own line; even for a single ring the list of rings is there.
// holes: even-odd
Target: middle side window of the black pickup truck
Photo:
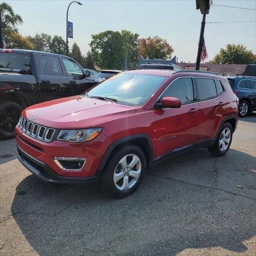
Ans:
[[[58,57],[38,55],[40,73],[43,75],[62,75],[62,69]]]

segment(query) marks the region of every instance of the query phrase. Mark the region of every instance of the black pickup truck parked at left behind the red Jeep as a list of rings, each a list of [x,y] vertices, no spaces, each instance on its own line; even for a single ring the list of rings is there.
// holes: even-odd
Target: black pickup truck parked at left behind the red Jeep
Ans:
[[[81,94],[101,81],[67,56],[0,49],[0,138],[14,137],[22,109]]]

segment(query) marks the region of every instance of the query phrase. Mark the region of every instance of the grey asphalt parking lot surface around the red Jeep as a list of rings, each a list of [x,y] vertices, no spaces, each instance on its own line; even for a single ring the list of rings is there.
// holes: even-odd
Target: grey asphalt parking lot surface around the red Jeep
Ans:
[[[256,113],[226,156],[171,158],[124,199],[39,180],[14,139],[0,150],[0,255],[255,255]]]

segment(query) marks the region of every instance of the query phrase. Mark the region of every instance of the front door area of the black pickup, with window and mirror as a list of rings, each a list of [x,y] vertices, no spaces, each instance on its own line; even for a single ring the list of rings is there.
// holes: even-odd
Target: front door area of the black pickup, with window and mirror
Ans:
[[[98,82],[90,77],[84,77],[83,69],[72,59],[61,58],[72,95],[78,95],[90,89]]]

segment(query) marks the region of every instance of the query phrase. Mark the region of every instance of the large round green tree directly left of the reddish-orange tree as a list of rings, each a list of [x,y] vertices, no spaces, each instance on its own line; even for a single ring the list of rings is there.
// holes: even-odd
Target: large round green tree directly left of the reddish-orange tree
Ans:
[[[92,59],[100,68],[127,69],[137,65],[138,34],[131,31],[104,31],[92,35]]]

